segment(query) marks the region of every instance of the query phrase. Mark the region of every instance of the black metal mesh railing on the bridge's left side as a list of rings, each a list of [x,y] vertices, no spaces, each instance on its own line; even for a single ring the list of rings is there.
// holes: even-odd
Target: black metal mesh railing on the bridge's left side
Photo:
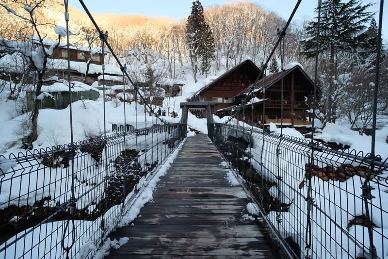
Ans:
[[[93,256],[185,132],[157,125],[0,156],[0,258]]]

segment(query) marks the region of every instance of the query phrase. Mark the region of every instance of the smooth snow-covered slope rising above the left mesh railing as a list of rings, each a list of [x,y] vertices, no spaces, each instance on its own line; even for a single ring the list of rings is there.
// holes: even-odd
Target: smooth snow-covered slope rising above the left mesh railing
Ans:
[[[1,103],[0,107],[7,107],[1,116],[2,127],[0,127],[0,154],[7,156],[9,153],[24,151],[20,149],[22,139],[28,134],[30,113],[24,113],[14,117],[12,102]],[[124,124],[124,103],[107,101],[106,107],[106,129],[107,133],[112,132],[112,124]],[[73,109],[73,132],[74,141],[82,141],[103,135],[104,117],[102,97],[96,101],[76,101],[72,104]],[[137,114],[137,128],[144,128],[155,124],[155,117],[148,116],[144,112],[143,105],[126,103],[126,122],[135,127]],[[145,116],[147,114],[147,116]],[[160,123],[160,121],[158,121]],[[70,115],[69,107],[63,110],[42,109],[38,116],[38,139],[33,143],[34,148],[46,148],[70,143]],[[6,154],[4,154],[6,152]]]

